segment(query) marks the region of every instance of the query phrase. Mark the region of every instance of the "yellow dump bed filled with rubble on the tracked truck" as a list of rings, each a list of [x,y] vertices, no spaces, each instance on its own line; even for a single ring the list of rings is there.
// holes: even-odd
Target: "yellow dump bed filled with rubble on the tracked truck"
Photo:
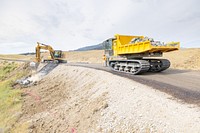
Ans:
[[[161,43],[144,36],[115,35],[114,55],[163,53],[178,50],[180,42]]]

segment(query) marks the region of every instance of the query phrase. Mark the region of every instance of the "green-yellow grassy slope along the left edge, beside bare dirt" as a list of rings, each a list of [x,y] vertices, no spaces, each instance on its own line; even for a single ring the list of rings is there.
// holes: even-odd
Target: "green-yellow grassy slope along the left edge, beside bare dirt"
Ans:
[[[0,65],[0,130],[8,132],[20,117],[21,93],[14,88],[16,79],[26,75],[28,70],[24,64],[1,62]],[[0,131],[0,132],[1,132]]]

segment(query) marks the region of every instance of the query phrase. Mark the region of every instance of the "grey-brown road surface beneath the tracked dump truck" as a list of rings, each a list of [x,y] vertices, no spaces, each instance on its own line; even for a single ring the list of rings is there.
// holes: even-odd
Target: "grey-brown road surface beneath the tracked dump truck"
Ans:
[[[183,102],[200,106],[200,71],[168,69],[161,73],[128,75],[114,72],[101,64],[71,63],[67,65],[107,71],[166,92]]]

